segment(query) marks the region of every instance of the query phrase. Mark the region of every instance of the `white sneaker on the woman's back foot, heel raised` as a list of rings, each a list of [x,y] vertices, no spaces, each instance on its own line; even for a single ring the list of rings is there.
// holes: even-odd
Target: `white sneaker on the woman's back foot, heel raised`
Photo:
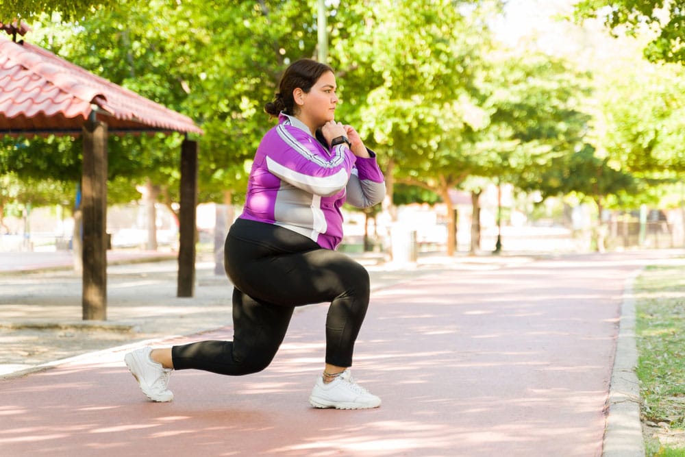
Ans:
[[[129,352],[124,362],[140,385],[140,390],[153,402],[171,402],[173,393],[169,390],[171,368],[162,367],[161,363],[150,358],[152,349],[143,347]]]

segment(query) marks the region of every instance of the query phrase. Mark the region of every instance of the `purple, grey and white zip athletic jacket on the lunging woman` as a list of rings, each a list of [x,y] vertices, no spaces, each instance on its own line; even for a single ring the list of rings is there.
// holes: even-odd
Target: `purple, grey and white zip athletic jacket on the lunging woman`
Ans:
[[[327,150],[299,119],[281,113],[257,148],[240,217],[285,227],[336,249],[343,240],[340,207],[382,201],[385,183],[371,158],[343,143]]]

